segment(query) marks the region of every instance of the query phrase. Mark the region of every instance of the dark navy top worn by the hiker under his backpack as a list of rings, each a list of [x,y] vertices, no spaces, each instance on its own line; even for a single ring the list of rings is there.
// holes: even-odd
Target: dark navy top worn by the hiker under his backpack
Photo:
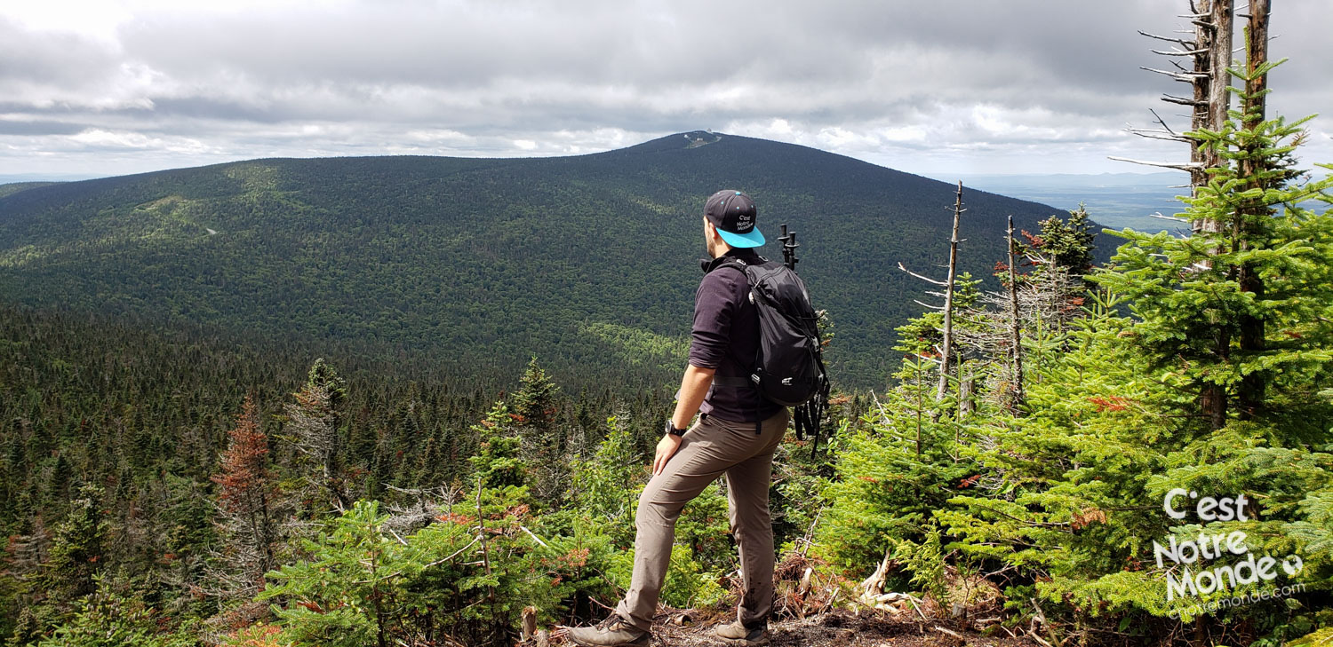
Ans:
[[[732,249],[724,257],[760,262],[752,249]],[[714,260],[713,264],[721,262]],[[758,313],[749,301],[749,281],[734,266],[717,268],[704,276],[694,293],[694,325],[690,331],[689,363],[717,369],[714,377],[745,377],[758,351]],[[744,365],[741,359],[744,358]],[[768,419],[782,405],[760,395],[754,386],[713,386],[700,411],[732,422]]]

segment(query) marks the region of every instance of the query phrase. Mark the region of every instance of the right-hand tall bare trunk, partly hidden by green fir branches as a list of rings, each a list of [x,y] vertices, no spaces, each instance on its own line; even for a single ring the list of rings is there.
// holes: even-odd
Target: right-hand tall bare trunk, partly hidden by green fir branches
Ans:
[[[1254,76],[1254,72],[1268,63],[1268,16],[1269,0],[1250,0],[1249,28],[1245,29],[1246,72],[1249,80],[1245,81],[1245,99],[1242,100],[1241,126],[1253,130],[1264,121],[1265,101],[1264,92],[1268,89],[1268,75]],[[1250,140],[1245,148],[1257,149],[1258,142]],[[1252,150],[1257,153],[1257,150]],[[1241,156],[1240,176],[1248,182],[1250,189],[1266,189],[1272,184],[1261,177],[1268,170],[1262,156]],[[1261,218],[1270,216],[1272,209],[1264,204],[1262,198],[1248,200],[1236,214],[1233,240],[1240,249],[1246,249],[1254,236],[1260,236]],[[1242,292],[1254,294],[1254,298],[1264,298],[1264,280],[1258,276],[1252,264],[1242,264],[1237,269],[1237,282]],[[1250,314],[1240,318],[1241,353],[1257,353],[1264,350],[1264,320]],[[1261,371],[1254,371],[1241,378],[1240,393],[1237,394],[1237,409],[1242,418],[1253,418],[1264,403],[1264,391],[1268,378]]]

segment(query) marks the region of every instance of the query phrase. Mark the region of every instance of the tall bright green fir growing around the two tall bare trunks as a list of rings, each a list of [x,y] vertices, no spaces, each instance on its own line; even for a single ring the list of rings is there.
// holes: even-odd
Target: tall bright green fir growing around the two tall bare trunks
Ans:
[[[1276,65],[1264,63],[1236,75],[1253,83]],[[1250,105],[1254,97],[1242,92],[1241,99]],[[1333,228],[1326,213],[1301,206],[1333,188],[1333,180],[1297,184],[1301,173],[1292,156],[1310,117],[1288,124],[1236,110],[1232,116],[1221,132],[1192,133],[1226,164],[1209,169],[1208,185],[1184,198],[1186,220],[1222,226],[1188,238],[1116,233],[1129,244],[1108,272],[1093,277],[1132,300],[1142,321],[1134,326],[1134,339],[1160,375],[1198,394],[1181,406],[1213,430],[1237,413],[1290,414],[1309,403],[1308,395],[1297,394],[1304,389],[1266,386],[1325,370],[1333,314],[1326,269]],[[1294,409],[1274,407],[1278,401]],[[1290,419],[1305,426],[1298,415]]]

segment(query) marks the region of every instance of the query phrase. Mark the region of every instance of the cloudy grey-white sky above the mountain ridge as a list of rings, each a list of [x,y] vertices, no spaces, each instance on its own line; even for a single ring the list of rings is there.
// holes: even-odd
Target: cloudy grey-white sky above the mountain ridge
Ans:
[[[1244,11],[1244,0],[1240,9]],[[713,129],[913,173],[1148,172],[1185,0],[13,0],[0,176],[552,156]],[[1333,161],[1328,0],[1274,3],[1272,109]],[[1237,20],[1238,23],[1241,19]],[[1237,40],[1240,44],[1240,40]]]

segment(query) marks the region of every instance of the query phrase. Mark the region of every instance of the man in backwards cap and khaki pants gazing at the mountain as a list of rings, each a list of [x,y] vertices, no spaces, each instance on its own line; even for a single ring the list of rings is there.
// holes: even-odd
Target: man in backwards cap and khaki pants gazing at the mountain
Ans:
[[[758,350],[758,314],[745,272],[761,262],[758,213],[749,196],[720,190],[704,205],[708,256],[694,294],[689,366],[653,457],[653,475],[635,517],[635,571],[625,598],[596,627],[571,628],[581,646],[647,646],[666,578],[681,509],[717,477],[726,477],[732,534],[740,548],[742,595],[736,620],[717,635],[744,646],[768,644],[773,607],[773,526],[768,490],[773,451],[790,413],[760,395],[745,378]],[[689,426],[694,411],[698,422]]]

